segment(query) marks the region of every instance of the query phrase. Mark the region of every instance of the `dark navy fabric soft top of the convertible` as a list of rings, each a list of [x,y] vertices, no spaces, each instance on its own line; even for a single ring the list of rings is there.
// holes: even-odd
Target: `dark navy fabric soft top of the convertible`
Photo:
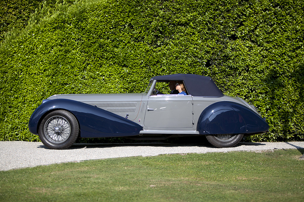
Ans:
[[[201,76],[195,74],[173,74],[154,76],[152,79],[157,81],[184,81],[188,94],[192,96],[203,96],[219,98],[224,94],[216,86],[212,78],[209,76]]]

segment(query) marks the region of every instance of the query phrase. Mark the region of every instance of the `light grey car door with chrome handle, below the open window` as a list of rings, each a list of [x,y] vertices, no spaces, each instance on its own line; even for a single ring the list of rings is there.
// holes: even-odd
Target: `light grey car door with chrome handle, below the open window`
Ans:
[[[153,130],[192,130],[192,103],[191,95],[151,95],[144,126]]]

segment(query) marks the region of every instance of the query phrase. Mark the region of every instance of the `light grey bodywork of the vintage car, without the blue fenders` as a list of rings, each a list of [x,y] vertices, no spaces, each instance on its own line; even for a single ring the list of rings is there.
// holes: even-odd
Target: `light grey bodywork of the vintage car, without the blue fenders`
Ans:
[[[199,134],[196,128],[202,111],[220,101],[236,102],[259,114],[255,107],[242,98],[228,95],[220,98],[176,94],[153,95],[156,82],[152,80],[147,93],[60,94],[47,99],[80,101],[127,117],[143,127],[141,134]]]

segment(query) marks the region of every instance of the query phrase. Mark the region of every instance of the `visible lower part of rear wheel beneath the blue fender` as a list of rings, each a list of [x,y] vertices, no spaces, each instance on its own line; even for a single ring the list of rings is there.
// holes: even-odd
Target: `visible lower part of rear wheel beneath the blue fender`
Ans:
[[[223,147],[234,147],[237,145],[244,134],[216,134],[216,135],[206,135],[207,140],[210,144],[217,148]]]

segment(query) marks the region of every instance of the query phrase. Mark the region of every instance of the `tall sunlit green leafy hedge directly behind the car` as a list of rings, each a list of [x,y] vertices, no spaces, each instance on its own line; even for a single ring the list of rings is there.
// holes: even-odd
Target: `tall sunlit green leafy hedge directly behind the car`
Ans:
[[[270,133],[303,140],[304,2],[111,0],[44,6],[0,49],[0,140],[53,94],[142,92],[155,75],[212,77],[254,104]],[[39,17],[39,18],[38,18]]]

